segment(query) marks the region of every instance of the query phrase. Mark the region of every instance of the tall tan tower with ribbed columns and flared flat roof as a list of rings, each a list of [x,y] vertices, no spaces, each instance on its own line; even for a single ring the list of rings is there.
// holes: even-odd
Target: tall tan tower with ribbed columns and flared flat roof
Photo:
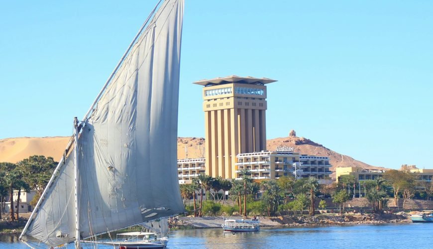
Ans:
[[[206,174],[235,178],[238,153],[266,150],[267,78],[201,80],[205,111]]]

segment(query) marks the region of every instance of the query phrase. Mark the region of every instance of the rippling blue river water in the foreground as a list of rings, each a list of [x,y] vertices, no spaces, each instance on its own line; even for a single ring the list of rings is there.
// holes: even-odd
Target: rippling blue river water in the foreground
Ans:
[[[321,227],[262,227],[260,232],[222,233],[222,229],[179,230],[170,233],[169,249],[433,249],[433,223],[345,225]],[[17,236],[0,235],[0,248],[27,248]],[[73,244],[68,248],[73,248]],[[84,247],[86,248],[86,247]],[[91,248],[91,247],[88,247]],[[108,249],[110,247],[99,247]]]

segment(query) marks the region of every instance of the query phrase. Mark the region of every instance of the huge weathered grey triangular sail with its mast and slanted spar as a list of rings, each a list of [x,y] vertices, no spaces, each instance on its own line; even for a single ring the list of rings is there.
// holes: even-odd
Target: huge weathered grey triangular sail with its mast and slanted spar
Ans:
[[[19,237],[27,246],[81,248],[184,211],[175,166],[183,9],[183,0],[157,3],[84,118],[74,119]]]

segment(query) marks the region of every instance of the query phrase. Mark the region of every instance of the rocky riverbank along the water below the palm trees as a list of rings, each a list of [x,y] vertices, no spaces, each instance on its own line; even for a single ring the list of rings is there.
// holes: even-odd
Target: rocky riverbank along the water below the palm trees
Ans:
[[[244,219],[243,216],[230,217],[179,217],[171,222],[175,229],[219,228],[224,219]],[[315,216],[278,216],[259,217],[261,227],[298,227],[321,225],[355,225],[380,223],[411,223],[404,213],[400,214],[364,214],[364,215],[315,215]]]

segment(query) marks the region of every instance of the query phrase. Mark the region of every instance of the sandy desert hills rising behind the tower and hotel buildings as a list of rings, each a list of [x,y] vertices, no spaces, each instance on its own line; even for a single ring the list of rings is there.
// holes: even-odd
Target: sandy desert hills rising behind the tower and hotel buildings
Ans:
[[[0,139],[0,162],[18,162],[31,155],[52,156],[54,160],[59,160],[69,139],[69,136]],[[178,137],[177,141],[179,159],[204,157],[205,139],[203,137]],[[301,154],[327,156],[332,164],[332,171],[335,171],[337,167],[345,166],[381,168],[355,160],[350,156],[341,155],[304,137],[289,136],[267,140],[268,150],[275,150],[278,145],[294,147],[295,152]]]

